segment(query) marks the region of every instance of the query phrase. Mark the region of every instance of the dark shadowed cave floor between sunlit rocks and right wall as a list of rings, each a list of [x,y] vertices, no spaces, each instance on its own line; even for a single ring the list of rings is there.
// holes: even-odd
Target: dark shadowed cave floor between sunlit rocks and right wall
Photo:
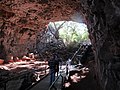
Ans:
[[[89,73],[86,74],[86,77],[63,90],[102,90],[94,74],[94,65],[94,62],[87,63],[85,66],[89,68]]]

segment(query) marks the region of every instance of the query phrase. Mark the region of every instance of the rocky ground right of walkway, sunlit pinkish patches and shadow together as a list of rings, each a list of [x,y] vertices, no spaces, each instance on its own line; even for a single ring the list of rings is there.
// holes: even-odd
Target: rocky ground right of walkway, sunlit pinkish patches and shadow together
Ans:
[[[74,73],[70,76],[72,81],[66,81],[63,90],[102,90],[95,78],[94,62],[90,61],[85,66],[82,72],[77,72],[80,75],[75,76]]]

